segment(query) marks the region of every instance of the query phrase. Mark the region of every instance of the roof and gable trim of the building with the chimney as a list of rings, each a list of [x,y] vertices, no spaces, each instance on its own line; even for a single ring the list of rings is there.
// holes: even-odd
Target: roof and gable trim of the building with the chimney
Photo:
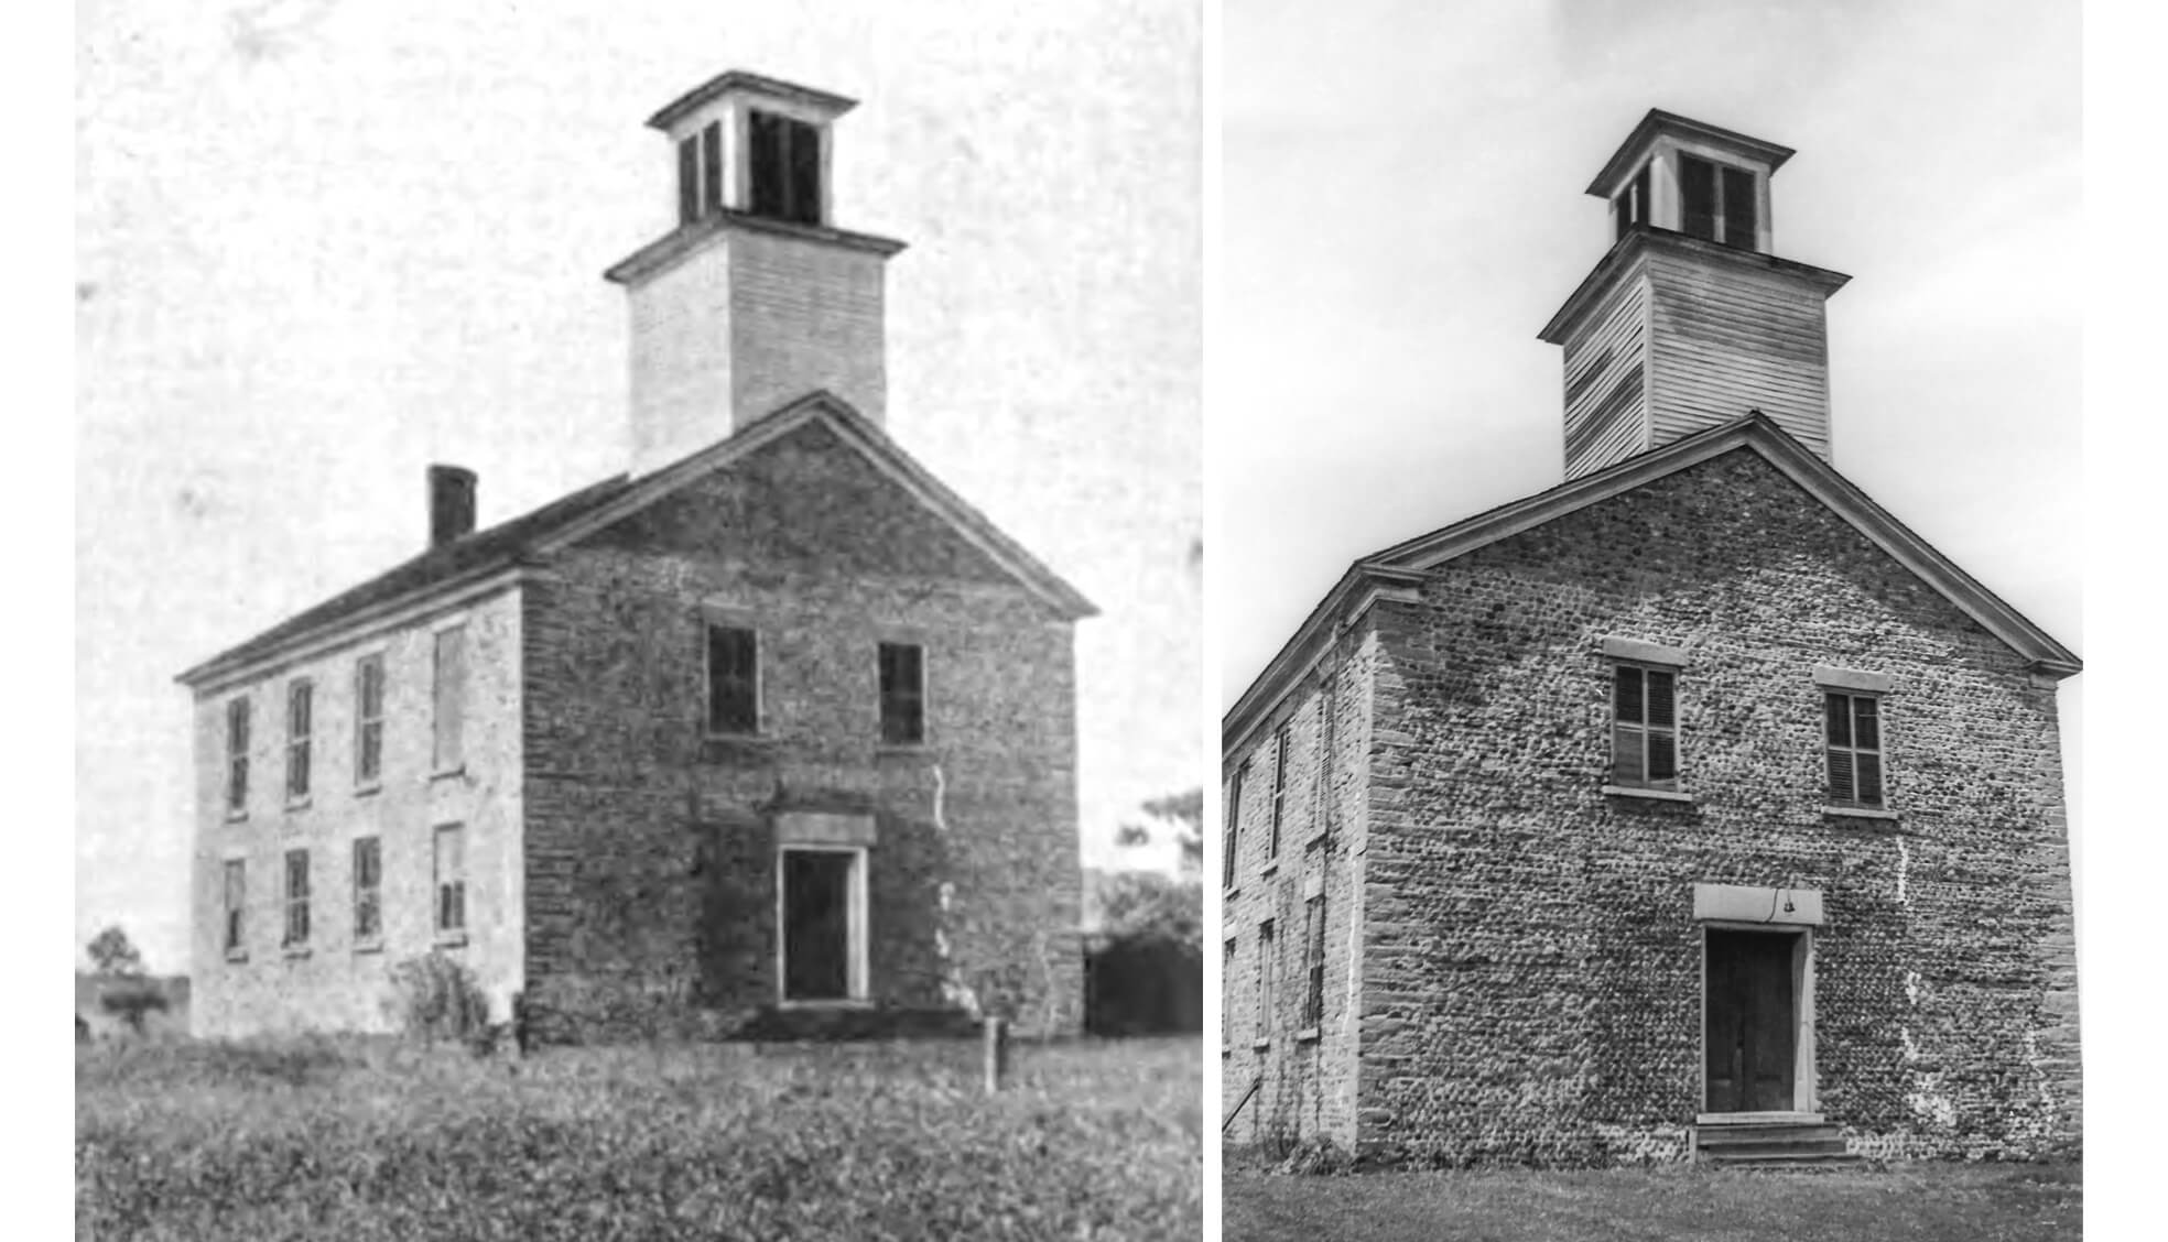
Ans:
[[[392,611],[425,605],[462,587],[490,581],[496,574],[527,568],[811,423],[833,429],[843,444],[865,455],[874,468],[902,486],[937,518],[945,520],[965,542],[1002,566],[1062,620],[1080,620],[1099,611],[1075,587],[1023,551],[1021,544],[1004,535],[984,514],[911,460],[895,440],[852,410],[848,401],[830,392],[811,392],[735,436],[718,440],[670,466],[640,477],[616,475],[601,483],[590,483],[540,509],[453,540],[440,548],[429,548],[353,590],[295,613],[241,646],[197,663],[182,672],[178,681],[191,687],[204,685],[286,655],[312,639]]]

